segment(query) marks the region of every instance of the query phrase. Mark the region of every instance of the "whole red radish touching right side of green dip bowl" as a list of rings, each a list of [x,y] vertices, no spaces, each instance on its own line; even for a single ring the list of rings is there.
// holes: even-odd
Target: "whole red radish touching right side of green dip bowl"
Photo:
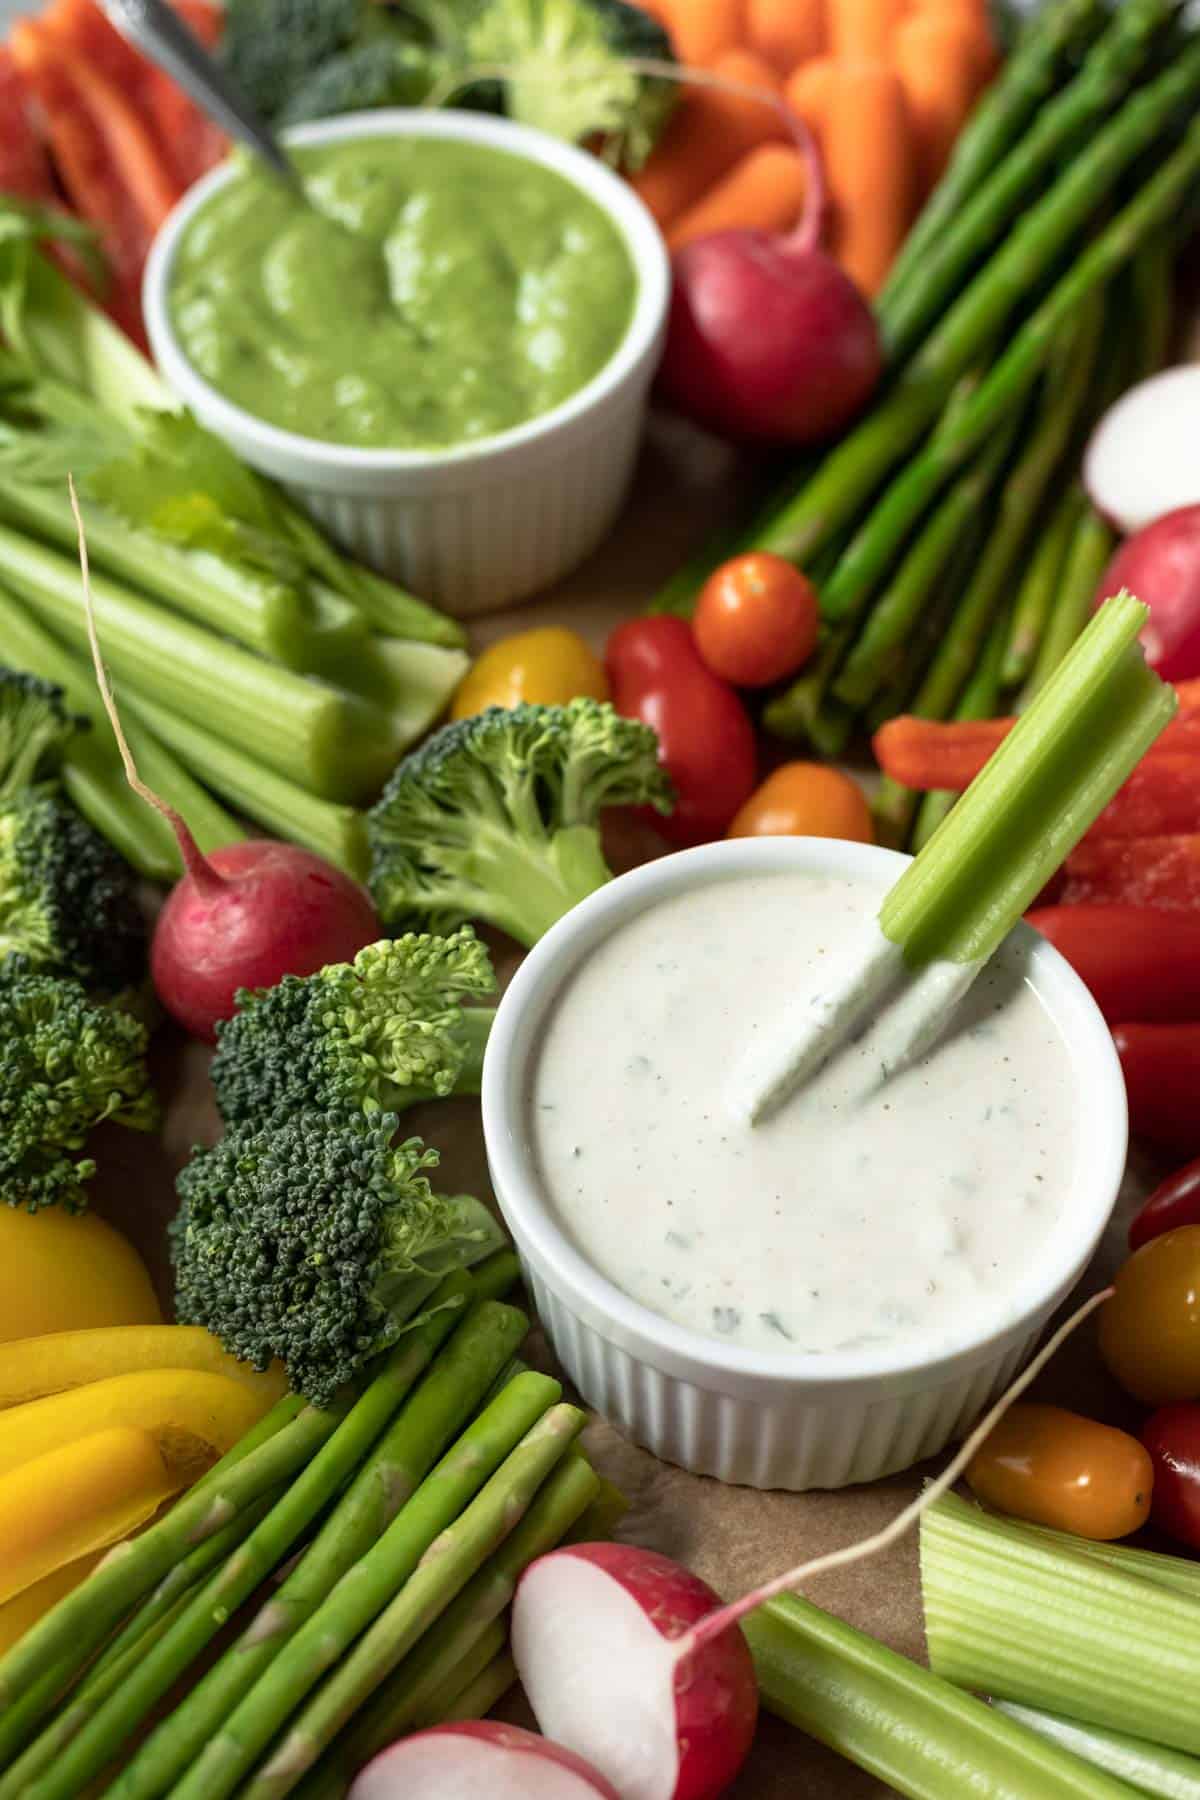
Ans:
[[[786,236],[721,230],[676,250],[658,389],[738,443],[808,445],[862,410],[883,353],[871,306],[820,248],[824,178],[811,133],[777,95],[763,99],[786,113],[804,157],[804,214]]]

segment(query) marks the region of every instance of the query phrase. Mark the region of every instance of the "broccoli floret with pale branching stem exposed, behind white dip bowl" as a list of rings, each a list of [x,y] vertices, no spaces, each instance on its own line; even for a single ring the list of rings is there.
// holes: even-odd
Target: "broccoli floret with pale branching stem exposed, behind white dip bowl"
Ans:
[[[603,806],[671,810],[649,725],[599,700],[488,707],[407,756],[367,815],[389,931],[482,918],[536,943],[612,878]]]

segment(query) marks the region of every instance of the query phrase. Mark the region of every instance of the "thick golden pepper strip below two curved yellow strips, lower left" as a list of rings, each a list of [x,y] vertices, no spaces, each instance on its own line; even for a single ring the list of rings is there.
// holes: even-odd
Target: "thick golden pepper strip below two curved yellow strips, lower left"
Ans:
[[[115,1426],[0,1476],[0,1600],[144,1525],[180,1487],[149,1431]]]

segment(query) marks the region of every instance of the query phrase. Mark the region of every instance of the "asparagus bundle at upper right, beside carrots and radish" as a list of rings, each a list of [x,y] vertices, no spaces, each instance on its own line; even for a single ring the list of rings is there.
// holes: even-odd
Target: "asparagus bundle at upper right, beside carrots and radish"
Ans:
[[[1112,549],[1079,486],[1106,403],[1166,356],[1200,175],[1200,34],[1180,0],[1052,0],[963,131],[878,299],[887,383],[738,547],[817,581],[817,657],[765,709],[838,754],[900,711],[979,718],[1036,691]],[[729,538],[658,596],[689,610]],[[880,835],[925,842],[946,796],[883,785]]]

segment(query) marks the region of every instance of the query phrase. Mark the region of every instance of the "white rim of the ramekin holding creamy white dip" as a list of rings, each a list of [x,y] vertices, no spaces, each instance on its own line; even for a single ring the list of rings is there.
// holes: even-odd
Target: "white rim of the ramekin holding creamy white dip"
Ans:
[[[500,1211],[516,1249],[554,1296],[608,1343],[664,1375],[700,1388],[752,1397],[790,1390],[891,1395],[925,1390],[993,1363],[1000,1352],[1040,1330],[1087,1269],[1112,1217],[1128,1152],[1124,1080],[1112,1033],[1074,968],[1024,922],[1015,938],[1029,958],[1027,974],[1054,1019],[1074,1066],[1081,1129],[1060,1220],[1011,1291],[1007,1310],[990,1309],[982,1328],[946,1334],[934,1346],[862,1350],[745,1350],[662,1318],[601,1274],[554,1219],[527,1141],[527,1073],[542,1022],[572,970],[622,922],[694,886],[739,875],[810,871],[855,878],[900,875],[912,859],[876,844],[817,837],[727,839],[675,851],[621,875],[572,907],[527,952],[509,983],[491,1028],[482,1076],[488,1165]],[[892,1204],[903,1204],[896,1195]]]

